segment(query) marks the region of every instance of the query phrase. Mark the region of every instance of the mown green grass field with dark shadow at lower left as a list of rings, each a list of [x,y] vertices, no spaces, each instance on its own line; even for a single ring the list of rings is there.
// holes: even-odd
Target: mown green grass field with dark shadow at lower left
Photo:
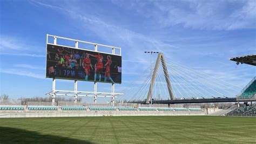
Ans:
[[[0,143],[256,143],[256,118],[117,116],[0,119]]]

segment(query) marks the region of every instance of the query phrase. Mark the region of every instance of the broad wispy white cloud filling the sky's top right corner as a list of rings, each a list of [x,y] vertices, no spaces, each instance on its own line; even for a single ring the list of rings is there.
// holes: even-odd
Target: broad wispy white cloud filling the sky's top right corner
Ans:
[[[237,30],[256,28],[256,2],[248,1],[113,1],[153,19],[161,27]],[[128,6],[127,6],[128,5]]]

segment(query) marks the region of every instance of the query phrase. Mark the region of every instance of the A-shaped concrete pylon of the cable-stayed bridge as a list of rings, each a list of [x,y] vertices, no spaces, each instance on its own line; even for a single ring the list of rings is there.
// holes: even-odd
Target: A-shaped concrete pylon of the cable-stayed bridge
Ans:
[[[160,53],[158,53],[156,65],[154,66],[153,76],[152,76],[152,79],[151,79],[151,85],[150,85],[150,88],[149,88],[149,93],[147,94],[146,104],[150,103],[150,100],[151,100],[151,97],[152,97],[151,88],[154,87],[154,82],[156,81],[156,76],[157,76],[157,70],[158,70],[158,67],[159,67],[159,63],[161,63],[162,66],[163,66],[163,70],[164,70],[164,74],[165,74],[165,81],[166,81],[166,85],[167,85],[167,88],[168,88],[168,91],[169,91],[170,99],[173,100],[173,98],[174,98],[174,95],[172,93],[172,85],[171,85],[171,82],[170,82],[170,79],[169,79],[169,74],[168,74],[167,67],[166,67],[166,64],[165,64],[164,54],[160,52]]]

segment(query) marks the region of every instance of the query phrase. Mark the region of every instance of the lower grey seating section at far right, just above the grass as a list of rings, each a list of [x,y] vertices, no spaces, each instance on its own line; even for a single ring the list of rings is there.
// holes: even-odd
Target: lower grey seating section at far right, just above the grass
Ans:
[[[237,107],[225,115],[226,116],[256,116],[256,107],[253,107],[253,106]]]

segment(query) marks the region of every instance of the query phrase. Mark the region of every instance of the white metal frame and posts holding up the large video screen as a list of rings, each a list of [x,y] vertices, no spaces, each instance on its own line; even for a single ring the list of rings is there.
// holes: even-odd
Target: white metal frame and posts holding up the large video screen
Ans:
[[[95,45],[95,52],[98,52],[98,46],[104,46],[104,47],[112,48],[112,53],[107,53],[107,54],[121,56],[121,48],[120,47],[96,44],[96,43],[91,43],[91,42],[85,42],[82,40],[64,38],[64,37],[53,36],[53,35],[48,35],[48,34],[46,35],[46,56],[47,56],[47,44],[52,44],[52,43],[48,42],[49,37],[53,37],[53,45],[57,45],[57,38],[59,38],[59,39],[71,40],[71,41],[75,42],[75,47],[71,47],[71,48],[79,49],[78,43],[85,43],[85,44]],[[64,45],[58,45],[58,46],[64,46]],[[70,46],[65,46],[65,47],[70,47]],[[115,53],[116,49],[119,49],[119,52],[120,52],[119,54]],[[86,49],[80,49],[80,50],[86,50]],[[91,51],[91,50],[86,50],[86,51]],[[101,53],[105,53],[105,52],[101,52]],[[45,61],[46,60],[47,60],[47,57],[45,58]],[[46,63],[45,63],[45,67],[46,67]],[[45,71],[45,76],[46,76],[46,71]],[[93,97],[95,104],[97,104],[97,97],[111,98],[112,106],[114,106],[114,98],[118,97],[119,95],[123,95],[123,93],[114,93],[114,84],[112,84],[111,93],[97,92],[97,82],[94,82],[93,92],[78,91],[77,85],[78,85],[78,81],[75,80],[74,91],[56,90],[56,87],[55,87],[56,79],[52,79],[52,91],[46,93],[46,95],[52,95],[52,104],[55,103],[56,95],[62,95],[62,96],[73,96],[74,103],[77,103],[77,97]]]

